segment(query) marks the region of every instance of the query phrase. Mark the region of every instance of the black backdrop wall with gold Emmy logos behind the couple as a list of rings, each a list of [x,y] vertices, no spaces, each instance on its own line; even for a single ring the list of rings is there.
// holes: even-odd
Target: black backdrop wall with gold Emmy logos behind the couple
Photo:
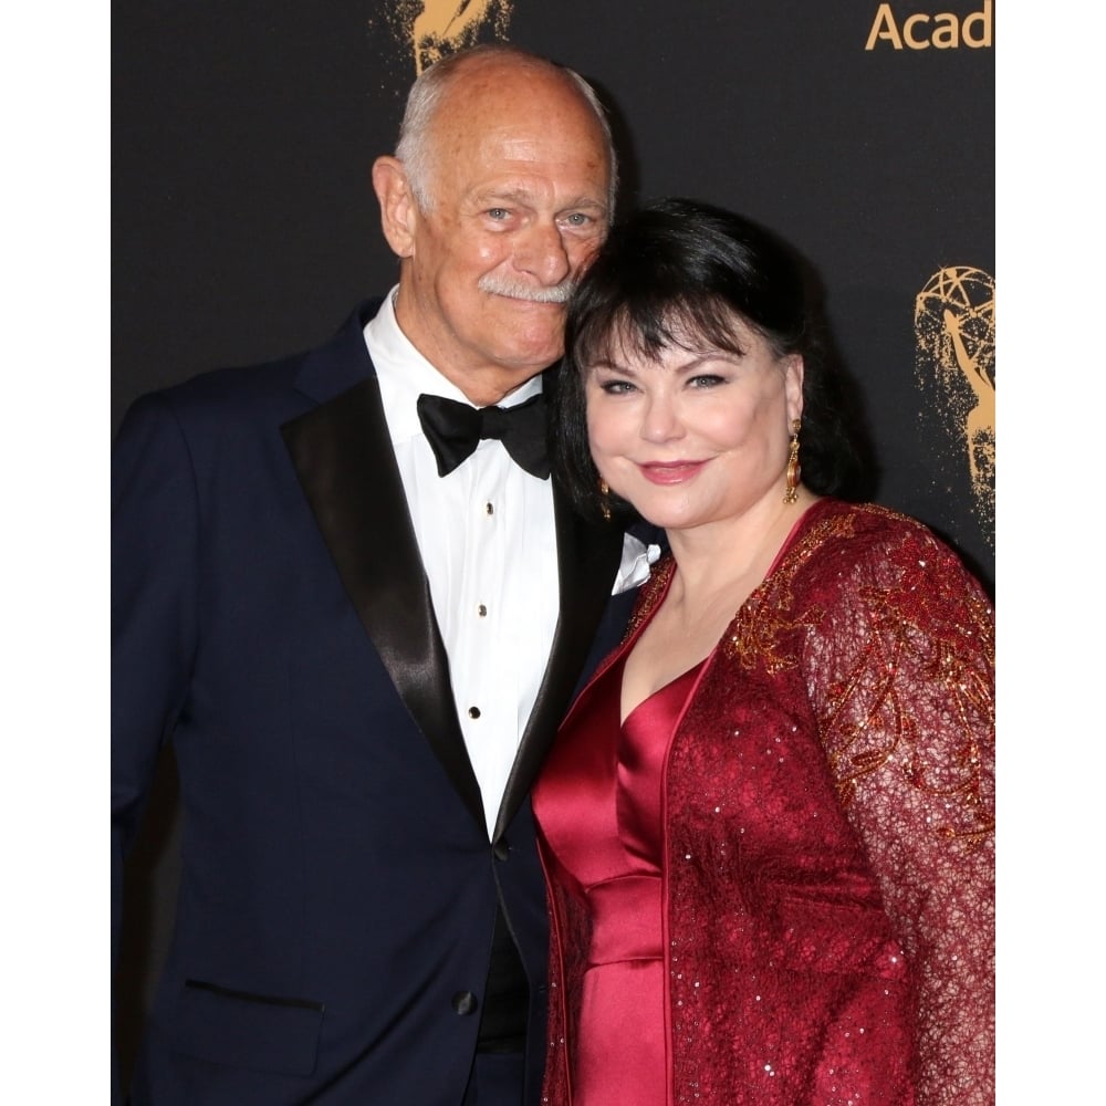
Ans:
[[[116,0],[113,424],[327,337],[396,263],[369,185],[410,82],[509,41],[611,107],[624,204],[735,208],[817,272],[873,498],[994,581],[994,0]],[[129,868],[121,1060],[168,937],[171,764]]]

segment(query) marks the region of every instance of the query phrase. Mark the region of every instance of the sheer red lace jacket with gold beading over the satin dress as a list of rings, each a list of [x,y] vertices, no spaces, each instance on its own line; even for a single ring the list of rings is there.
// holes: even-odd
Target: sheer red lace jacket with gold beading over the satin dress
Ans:
[[[665,811],[670,1102],[993,1102],[993,611],[925,526],[811,508],[702,670]],[[560,1106],[587,919],[550,900]]]

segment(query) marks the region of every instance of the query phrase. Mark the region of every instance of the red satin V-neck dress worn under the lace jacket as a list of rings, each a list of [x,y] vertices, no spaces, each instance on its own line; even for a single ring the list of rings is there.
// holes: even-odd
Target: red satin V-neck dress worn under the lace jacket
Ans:
[[[591,689],[587,709],[562,730],[559,750],[573,755],[554,753],[534,794],[560,877],[592,924],[573,1106],[668,1100],[661,790],[668,744],[700,667],[655,691],[619,726],[623,662],[613,665]]]

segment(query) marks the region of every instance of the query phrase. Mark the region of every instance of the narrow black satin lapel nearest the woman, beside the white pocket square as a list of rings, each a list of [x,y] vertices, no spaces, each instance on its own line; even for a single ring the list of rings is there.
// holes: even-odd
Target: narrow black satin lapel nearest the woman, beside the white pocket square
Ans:
[[[495,822],[493,841],[510,825],[538,776],[557,727],[567,713],[581,668],[587,659],[622,561],[623,533],[616,526],[581,519],[557,484],[553,484],[556,517],[557,574],[561,614],[553,647],[511,769]]]

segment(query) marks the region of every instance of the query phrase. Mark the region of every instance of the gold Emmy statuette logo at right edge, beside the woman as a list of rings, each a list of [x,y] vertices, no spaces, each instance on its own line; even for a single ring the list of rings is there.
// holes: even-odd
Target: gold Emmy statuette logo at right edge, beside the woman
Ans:
[[[982,269],[940,269],[914,305],[920,417],[939,431],[937,472],[966,474],[981,529],[994,545],[994,278]]]

